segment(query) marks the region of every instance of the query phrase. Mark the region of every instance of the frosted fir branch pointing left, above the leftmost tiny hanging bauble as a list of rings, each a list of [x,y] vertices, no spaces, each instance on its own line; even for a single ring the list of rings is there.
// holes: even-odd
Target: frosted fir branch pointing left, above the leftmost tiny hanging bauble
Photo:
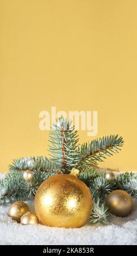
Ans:
[[[10,172],[16,172],[18,170],[39,170],[41,172],[50,171],[56,172],[59,168],[56,164],[45,156],[35,157],[21,157],[14,159],[12,164],[9,165]]]

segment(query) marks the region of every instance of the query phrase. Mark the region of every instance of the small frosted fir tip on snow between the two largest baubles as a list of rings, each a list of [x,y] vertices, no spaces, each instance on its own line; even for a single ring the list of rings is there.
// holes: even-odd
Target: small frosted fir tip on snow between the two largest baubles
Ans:
[[[100,203],[100,199],[97,199],[97,202],[93,202],[93,210],[92,214],[90,215],[90,222],[93,224],[96,223],[102,223],[102,224],[108,224],[110,214],[108,212],[107,206],[105,206],[103,203]]]

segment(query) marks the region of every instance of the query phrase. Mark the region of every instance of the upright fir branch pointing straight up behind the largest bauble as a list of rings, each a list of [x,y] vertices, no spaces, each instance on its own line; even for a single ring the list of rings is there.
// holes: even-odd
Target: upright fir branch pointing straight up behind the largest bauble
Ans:
[[[77,151],[77,131],[71,126],[71,121],[67,121],[61,117],[56,124],[53,124],[54,129],[51,130],[49,136],[49,151],[53,161],[64,173],[68,173],[70,169],[76,166],[79,161],[80,152]]]

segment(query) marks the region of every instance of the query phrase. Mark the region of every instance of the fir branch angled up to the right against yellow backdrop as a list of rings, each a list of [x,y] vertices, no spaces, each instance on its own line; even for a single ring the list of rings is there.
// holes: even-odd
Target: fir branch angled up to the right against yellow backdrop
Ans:
[[[107,156],[112,156],[113,153],[118,153],[123,145],[123,138],[118,135],[110,135],[102,138],[94,139],[90,143],[84,143],[80,148],[79,166],[89,164],[97,164],[97,161],[102,162]]]

